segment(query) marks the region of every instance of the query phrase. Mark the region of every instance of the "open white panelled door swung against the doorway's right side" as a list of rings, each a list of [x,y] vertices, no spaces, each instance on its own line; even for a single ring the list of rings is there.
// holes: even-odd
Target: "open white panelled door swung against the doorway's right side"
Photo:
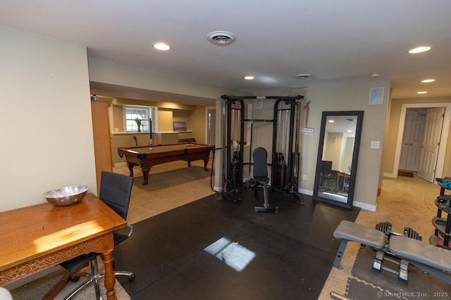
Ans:
[[[420,147],[420,166],[418,176],[426,181],[435,179],[440,134],[442,132],[444,107],[428,108],[424,126],[424,138]]]

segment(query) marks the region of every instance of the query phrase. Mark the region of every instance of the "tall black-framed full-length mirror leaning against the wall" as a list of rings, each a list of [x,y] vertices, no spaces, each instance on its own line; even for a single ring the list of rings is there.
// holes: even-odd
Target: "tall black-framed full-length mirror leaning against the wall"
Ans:
[[[323,112],[313,199],[352,208],[363,111]]]

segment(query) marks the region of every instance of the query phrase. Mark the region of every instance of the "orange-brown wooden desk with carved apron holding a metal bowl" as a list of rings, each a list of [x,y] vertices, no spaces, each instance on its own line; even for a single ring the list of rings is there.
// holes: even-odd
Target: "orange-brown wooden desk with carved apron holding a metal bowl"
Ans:
[[[0,221],[0,286],[98,252],[104,256],[107,299],[116,299],[113,231],[127,223],[93,194],[68,207],[43,203],[0,212]]]

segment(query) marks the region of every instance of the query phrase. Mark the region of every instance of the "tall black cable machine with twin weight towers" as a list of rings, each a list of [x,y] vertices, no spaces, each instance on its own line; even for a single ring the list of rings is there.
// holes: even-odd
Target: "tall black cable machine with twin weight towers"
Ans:
[[[303,96],[221,96],[223,124],[223,174],[221,198],[241,201],[237,188],[243,185],[243,167],[251,170],[252,129],[254,122],[273,122],[271,189],[285,190],[297,198],[299,165],[299,127]],[[245,99],[272,99],[273,119],[245,119]],[[250,122],[249,163],[244,162],[245,122]]]

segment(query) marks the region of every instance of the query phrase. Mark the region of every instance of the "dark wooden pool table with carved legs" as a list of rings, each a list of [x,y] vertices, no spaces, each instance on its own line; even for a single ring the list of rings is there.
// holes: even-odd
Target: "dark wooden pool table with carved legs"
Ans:
[[[173,162],[175,160],[185,160],[188,167],[191,167],[192,160],[204,160],[204,169],[209,162],[210,151],[214,145],[203,145],[197,143],[179,143],[173,145],[159,145],[147,147],[118,148],[120,157],[125,155],[127,159],[130,176],[133,176],[133,167],[140,166],[144,176],[143,185],[149,183],[149,171],[156,164]]]

